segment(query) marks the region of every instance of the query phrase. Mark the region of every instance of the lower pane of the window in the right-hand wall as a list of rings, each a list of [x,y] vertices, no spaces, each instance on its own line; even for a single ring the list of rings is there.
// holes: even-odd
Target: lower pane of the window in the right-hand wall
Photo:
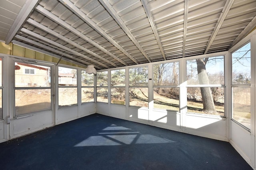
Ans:
[[[250,87],[232,88],[232,119],[248,129],[251,125]]]

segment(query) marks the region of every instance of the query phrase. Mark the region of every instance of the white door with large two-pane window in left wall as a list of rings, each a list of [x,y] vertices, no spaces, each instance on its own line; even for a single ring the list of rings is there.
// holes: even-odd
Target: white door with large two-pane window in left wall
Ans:
[[[54,125],[54,65],[10,60],[10,139]]]

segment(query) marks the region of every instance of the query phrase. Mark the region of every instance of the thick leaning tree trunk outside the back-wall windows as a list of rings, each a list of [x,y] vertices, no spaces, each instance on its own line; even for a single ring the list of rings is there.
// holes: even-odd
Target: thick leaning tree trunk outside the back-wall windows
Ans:
[[[198,72],[198,80],[200,84],[209,84],[208,75],[206,72],[206,64],[207,60],[204,61],[203,59],[196,59],[197,64],[197,72]],[[214,101],[212,98],[212,91],[210,87],[201,87],[201,94],[202,94],[202,101],[204,105],[204,111],[207,113],[216,113]]]

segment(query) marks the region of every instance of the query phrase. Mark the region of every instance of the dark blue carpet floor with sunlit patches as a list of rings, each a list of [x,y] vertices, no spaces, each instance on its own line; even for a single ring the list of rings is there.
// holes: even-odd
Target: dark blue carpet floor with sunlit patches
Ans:
[[[93,114],[0,143],[1,170],[251,170],[230,143]]]

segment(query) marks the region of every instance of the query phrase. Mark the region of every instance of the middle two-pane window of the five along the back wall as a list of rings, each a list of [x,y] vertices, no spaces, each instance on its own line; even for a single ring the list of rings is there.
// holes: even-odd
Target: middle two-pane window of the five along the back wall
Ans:
[[[129,69],[130,106],[148,107],[148,67]]]

